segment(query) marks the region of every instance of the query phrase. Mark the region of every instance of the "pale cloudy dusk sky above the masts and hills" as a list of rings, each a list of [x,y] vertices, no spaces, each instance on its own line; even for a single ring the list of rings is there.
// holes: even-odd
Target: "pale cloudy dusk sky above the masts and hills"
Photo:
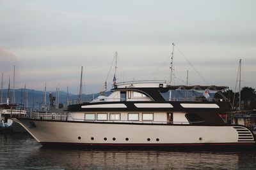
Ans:
[[[97,93],[118,52],[117,81],[256,89],[256,1],[0,0],[0,74],[15,88]],[[189,61],[189,62],[188,62]],[[113,68],[113,67],[112,67]],[[198,74],[199,73],[199,74]],[[111,88],[114,70],[107,79]]]

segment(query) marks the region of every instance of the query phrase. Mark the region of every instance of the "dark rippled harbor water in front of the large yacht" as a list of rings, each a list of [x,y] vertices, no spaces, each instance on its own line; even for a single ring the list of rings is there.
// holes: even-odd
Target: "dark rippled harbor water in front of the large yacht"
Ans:
[[[256,169],[256,153],[45,148],[26,133],[0,134],[0,169]]]

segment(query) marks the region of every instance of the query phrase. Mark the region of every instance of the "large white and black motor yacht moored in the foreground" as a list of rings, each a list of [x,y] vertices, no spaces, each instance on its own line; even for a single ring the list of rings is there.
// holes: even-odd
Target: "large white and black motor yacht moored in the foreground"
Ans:
[[[109,96],[68,107],[68,114],[14,118],[42,145],[83,146],[255,146],[243,125],[227,125],[227,99],[173,99],[170,91],[223,91],[228,87],[169,86],[166,82],[116,83]],[[168,99],[165,99],[168,97]],[[223,96],[224,97],[224,96]]]

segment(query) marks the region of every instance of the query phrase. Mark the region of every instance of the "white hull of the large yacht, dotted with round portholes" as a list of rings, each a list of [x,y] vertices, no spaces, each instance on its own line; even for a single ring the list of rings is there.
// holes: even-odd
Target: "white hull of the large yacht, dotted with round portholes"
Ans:
[[[252,132],[240,126],[15,121],[43,145],[255,145]]]

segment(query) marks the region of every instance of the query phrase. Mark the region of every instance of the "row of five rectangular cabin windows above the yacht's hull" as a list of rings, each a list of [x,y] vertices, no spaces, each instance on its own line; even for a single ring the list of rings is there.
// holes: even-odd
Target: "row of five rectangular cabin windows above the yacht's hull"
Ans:
[[[118,121],[121,120],[121,113],[84,113],[84,120],[111,120]],[[139,121],[139,113],[128,113],[127,120],[129,121]],[[153,121],[154,113],[142,113],[142,121]]]

